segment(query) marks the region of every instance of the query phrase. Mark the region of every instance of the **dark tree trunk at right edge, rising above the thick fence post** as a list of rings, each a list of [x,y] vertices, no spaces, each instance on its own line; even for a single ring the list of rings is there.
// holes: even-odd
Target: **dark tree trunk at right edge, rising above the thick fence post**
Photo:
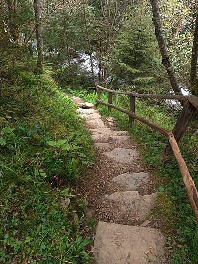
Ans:
[[[195,29],[194,29],[194,37],[193,37],[193,46],[191,53],[191,74],[190,74],[190,85],[191,92],[193,95],[198,96],[198,80],[197,80],[197,64],[198,64],[198,4],[197,4],[197,12],[196,12],[196,20],[195,20]]]

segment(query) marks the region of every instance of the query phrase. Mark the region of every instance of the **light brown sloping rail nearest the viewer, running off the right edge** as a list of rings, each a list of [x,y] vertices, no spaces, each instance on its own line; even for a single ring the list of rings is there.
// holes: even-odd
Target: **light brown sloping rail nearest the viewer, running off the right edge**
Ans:
[[[183,178],[184,186],[185,186],[186,192],[188,194],[190,204],[193,208],[196,219],[198,221],[198,191],[197,191],[195,184],[194,184],[194,181],[193,181],[193,179],[192,179],[192,177],[188,171],[186,163],[185,163],[184,159],[182,158],[179,147],[177,145],[177,141],[174,138],[173,133],[169,133],[168,139],[169,139],[170,145],[172,147],[173,153],[175,155],[175,158],[177,160],[177,164],[178,164],[179,170],[180,170],[182,178]]]

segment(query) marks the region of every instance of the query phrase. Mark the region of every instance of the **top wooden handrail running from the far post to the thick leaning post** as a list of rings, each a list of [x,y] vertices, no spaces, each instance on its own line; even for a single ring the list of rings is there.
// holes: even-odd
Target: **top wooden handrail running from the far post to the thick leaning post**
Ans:
[[[132,95],[136,97],[141,97],[141,98],[160,98],[160,99],[175,99],[175,100],[187,100],[189,96],[187,95],[153,95],[153,94],[138,94],[138,93],[132,93],[132,92],[121,92],[121,91],[114,91],[105,87],[102,87],[100,85],[97,85],[98,88],[101,90],[111,92],[113,94],[122,94],[122,95]]]

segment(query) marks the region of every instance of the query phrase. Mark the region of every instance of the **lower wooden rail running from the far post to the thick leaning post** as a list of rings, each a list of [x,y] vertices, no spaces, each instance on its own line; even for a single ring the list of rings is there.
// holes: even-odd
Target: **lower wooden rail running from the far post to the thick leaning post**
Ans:
[[[148,119],[146,119],[146,118],[144,118],[144,117],[142,117],[142,116],[140,116],[140,115],[138,115],[138,114],[136,114],[136,113],[134,113],[134,112],[131,112],[131,111],[128,111],[128,110],[122,109],[122,108],[120,108],[120,107],[118,107],[118,106],[114,106],[114,105],[112,105],[112,104],[109,104],[109,103],[103,102],[103,101],[101,101],[101,100],[99,100],[99,99],[96,99],[96,102],[99,103],[99,104],[101,104],[101,105],[104,105],[104,106],[110,106],[110,107],[112,107],[113,109],[116,109],[116,110],[118,110],[118,111],[120,111],[120,112],[126,113],[126,114],[128,114],[129,116],[131,116],[131,117],[133,117],[133,118],[139,120],[140,122],[142,122],[142,123],[144,123],[144,124],[146,124],[146,125],[148,125],[148,126],[154,128],[155,130],[159,131],[160,133],[162,133],[162,134],[165,135],[165,136],[168,136],[168,134],[170,133],[170,131],[168,131],[167,129],[165,129],[165,128],[163,128],[163,127],[161,127],[161,126],[159,126],[159,125],[157,125],[157,124],[155,124],[155,123],[149,121]]]

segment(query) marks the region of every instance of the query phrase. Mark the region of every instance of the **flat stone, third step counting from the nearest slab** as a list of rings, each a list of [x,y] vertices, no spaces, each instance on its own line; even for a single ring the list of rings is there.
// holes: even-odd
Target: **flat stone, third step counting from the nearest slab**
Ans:
[[[147,183],[148,178],[149,178],[148,173],[145,172],[133,173],[133,174],[124,173],[118,175],[117,177],[114,177],[112,181],[117,184],[121,184],[126,188],[127,191],[133,191],[139,188],[142,183]]]

